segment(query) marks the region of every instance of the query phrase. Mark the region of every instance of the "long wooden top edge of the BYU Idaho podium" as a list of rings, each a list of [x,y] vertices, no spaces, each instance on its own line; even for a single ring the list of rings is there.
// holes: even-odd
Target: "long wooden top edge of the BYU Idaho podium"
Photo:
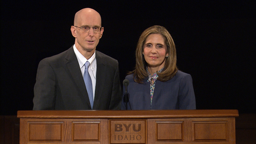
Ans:
[[[213,118],[238,117],[238,110],[27,110],[18,118]]]

